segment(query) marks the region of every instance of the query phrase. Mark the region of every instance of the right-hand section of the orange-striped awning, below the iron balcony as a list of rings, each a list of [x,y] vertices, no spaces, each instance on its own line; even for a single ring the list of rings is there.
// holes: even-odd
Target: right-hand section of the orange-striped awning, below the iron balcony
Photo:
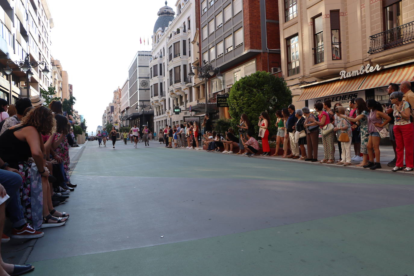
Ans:
[[[381,70],[374,74],[368,74],[363,81],[360,90],[388,86],[391,82],[400,84],[403,81],[410,81],[414,76],[414,64],[397,66]]]

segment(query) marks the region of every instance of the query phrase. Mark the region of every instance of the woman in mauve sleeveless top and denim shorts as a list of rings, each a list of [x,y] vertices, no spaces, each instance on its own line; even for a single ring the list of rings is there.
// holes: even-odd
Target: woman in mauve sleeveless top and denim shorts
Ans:
[[[363,166],[364,168],[370,168],[375,170],[381,168],[380,163],[380,131],[384,128],[385,125],[390,122],[391,118],[383,112],[383,106],[375,101],[374,99],[368,99],[366,101],[366,107],[370,110],[368,115],[368,144],[366,148],[368,149],[369,162]],[[384,119],[384,122],[383,122]],[[374,163],[374,155],[377,162]]]

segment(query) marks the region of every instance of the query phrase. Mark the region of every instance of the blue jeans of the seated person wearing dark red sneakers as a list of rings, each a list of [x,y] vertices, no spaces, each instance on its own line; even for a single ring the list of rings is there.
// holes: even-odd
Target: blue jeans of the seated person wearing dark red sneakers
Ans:
[[[12,222],[13,228],[18,228],[26,223],[23,215],[23,207],[20,202],[20,186],[22,177],[17,173],[0,169],[0,183],[6,189],[10,199],[7,201],[6,213]]]

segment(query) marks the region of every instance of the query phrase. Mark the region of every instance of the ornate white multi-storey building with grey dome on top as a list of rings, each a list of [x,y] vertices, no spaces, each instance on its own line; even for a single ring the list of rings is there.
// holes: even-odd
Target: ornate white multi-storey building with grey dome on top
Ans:
[[[195,0],[178,0],[175,9],[161,7],[152,36],[149,84],[154,130],[183,123],[188,103],[193,100],[188,72],[198,55],[192,43],[197,36]]]

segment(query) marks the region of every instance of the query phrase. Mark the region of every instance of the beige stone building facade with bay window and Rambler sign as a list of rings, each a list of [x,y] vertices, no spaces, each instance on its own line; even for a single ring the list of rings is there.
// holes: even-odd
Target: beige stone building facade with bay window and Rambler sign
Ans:
[[[388,101],[414,76],[414,2],[279,0],[282,72],[294,103]]]

